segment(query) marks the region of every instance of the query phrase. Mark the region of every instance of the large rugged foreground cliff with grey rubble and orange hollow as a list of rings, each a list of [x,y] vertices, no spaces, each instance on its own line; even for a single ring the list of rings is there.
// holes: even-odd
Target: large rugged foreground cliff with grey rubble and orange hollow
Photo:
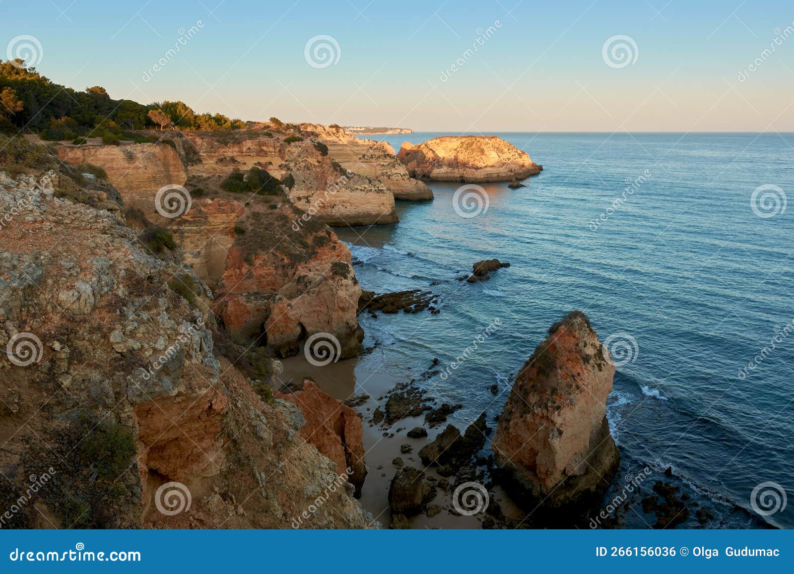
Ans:
[[[0,245],[0,396],[13,406],[0,466],[18,469],[2,506],[30,475],[50,479],[15,526],[373,526],[300,436],[300,410],[263,403],[239,357],[216,354],[210,290],[181,253],[155,256],[121,210],[91,206],[106,192],[72,193],[63,177],[0,172],[0,210],[18,214]]]

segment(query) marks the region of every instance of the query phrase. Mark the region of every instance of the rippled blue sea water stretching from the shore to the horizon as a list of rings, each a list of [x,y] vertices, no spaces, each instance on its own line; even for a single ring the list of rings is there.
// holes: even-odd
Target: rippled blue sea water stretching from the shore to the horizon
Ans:
[[[437,135],[380,138],[399,149]],[[615,335],[607,417],[622,476],[649,466],[643,490],[672,480],[716,514],[709,527],[761,525],[734,505],[752,509],[754,488],[777,483],[778,510],[763,519],[794,526],[794,501],[782,508],[794,495],[794,206],[783,210],[794,134],[497,135],[542,174],[516,190],[483,184],[488,209],[475,217],[455,209],[461,184],[432,183],[433,202],[398,202],[398,224],[337,230],[365,288],[420,287],[443,300],[436,315],[362,316],[383,368],[419,372],[433,357],[448,368],[498,318],[459,368],[427,382],[465,405],[456,424],[482,410],[491,418],[549,325],[584,310],[602,341]],[[754,210],[764,185],[780,191],[759,191]],[[608,210],[615,198],[624,201]],[[511,267],[484,283],[456,280],[491,257]],[[672,479],[661,476],[668,466]],[[769,488],[757,509],[775,507]],[[626,513],[627,526],[649,521]],[[682,526],[698,525],[693,512]]]

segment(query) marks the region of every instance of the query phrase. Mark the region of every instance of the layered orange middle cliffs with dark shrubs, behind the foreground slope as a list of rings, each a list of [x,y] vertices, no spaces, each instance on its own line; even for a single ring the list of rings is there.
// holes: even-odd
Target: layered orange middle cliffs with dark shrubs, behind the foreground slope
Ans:
[[[174,234],[185,262],[214,291],[214,310],[227,328],[264,334],[260,341],[281,356],[298,352],[314,333],[330,333],[341,356],[355,356],[364,336],[356,314],[360,286],[349,249],[323,223],[394,222],[394,198],[375,179],[339,175],[309,142],[290,145],[265,134],[187,133],[176,138],[179,145],[64,146],[60,156],[104,168],[129,206]],[[191,162],[187,148],[197,154]],[[221,189],[233,169],[253,167],[292,175],[295,185],[271,196]],[[190,209],[175,218],[156,210],[156,193],[169,183],[184,184],[191,195]]]

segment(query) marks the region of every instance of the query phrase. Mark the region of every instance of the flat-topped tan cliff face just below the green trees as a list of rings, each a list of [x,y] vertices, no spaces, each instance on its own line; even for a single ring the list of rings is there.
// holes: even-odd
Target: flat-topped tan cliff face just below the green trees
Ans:
[[[61,160],[70,164],[94,164],[107,172],[128,207],[135,207],[152,221],[163,218],[155,209],[155,195],[161,187],[183,185],[187,167],[174,145],[61,145]]]

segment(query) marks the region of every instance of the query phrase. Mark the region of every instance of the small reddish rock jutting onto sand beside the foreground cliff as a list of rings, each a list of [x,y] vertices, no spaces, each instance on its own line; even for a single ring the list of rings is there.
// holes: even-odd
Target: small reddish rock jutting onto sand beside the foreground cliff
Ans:
[[[364,464],[364,429],[356,411],[321,391],[309,379],[303,381],[302,390],[278,396],[299,407],[306,418],[301,436],[337,465],[337,473],[344,472],[348,476],[356,488],[355,495],[360,496],[367,466]]]

